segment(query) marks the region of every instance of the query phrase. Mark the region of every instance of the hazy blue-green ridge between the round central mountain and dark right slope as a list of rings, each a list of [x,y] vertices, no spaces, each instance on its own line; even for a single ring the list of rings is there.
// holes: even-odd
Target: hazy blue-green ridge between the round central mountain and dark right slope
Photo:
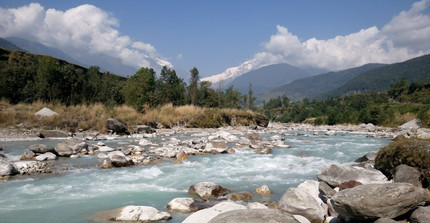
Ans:
[[[366,64],[360,67],[347,70],[329,72],[316,76],[305,77],[295,80],[291,83],[279,86],[267,94],[264,98],[274,98],[280,95],[286,95],[294,101],[303,98],[313,99],[324,92],[336,89],[354,77],[371,69],[385,66],[385,64]]]

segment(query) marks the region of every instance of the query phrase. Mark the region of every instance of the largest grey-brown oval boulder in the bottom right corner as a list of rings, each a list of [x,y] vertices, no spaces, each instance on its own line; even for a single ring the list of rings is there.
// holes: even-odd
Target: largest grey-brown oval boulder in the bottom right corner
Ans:
[[[366,184],[332,197],[333,208],[356,220],[396,218],[430,202],[428,192],[408,183]]]

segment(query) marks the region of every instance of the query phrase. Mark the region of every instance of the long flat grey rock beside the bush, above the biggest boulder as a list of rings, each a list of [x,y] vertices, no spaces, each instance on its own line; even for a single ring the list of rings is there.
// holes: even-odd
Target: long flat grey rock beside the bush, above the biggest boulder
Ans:
[[[351,180],[362,184],[388,183],[387,177],[379,170],[357,166],[338,166],[336,164],[324,168],[317,177],[332,187],[338,187],[341,183]]]

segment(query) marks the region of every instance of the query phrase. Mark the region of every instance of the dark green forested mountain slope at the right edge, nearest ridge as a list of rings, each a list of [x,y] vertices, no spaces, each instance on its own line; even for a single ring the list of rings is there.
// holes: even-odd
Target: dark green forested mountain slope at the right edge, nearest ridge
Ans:
[[[384,91],[403,77],[406,77],[411,83],[430,79],[430,54],[369,70],[349,80],[345,85],[319,97],[338,97],[360,92]]]

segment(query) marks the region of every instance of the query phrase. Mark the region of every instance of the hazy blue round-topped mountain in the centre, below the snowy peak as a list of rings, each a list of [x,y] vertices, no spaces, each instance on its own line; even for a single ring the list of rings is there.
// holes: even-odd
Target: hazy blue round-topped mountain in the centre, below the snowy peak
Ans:
[[[247,94],[251,83],[254,94],[261,94],[281,84],[310,75],[307,70],[289,64],[273,64],[242,74],[229,85],[233,85],[242,94]]]

